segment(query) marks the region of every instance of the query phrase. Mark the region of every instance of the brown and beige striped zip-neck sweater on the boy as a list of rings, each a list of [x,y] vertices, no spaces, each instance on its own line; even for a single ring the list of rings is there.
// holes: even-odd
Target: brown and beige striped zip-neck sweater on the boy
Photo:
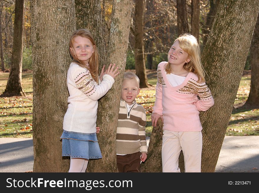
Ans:
[[[116,135],[117,154],[132,154],[139,151],[147,153],[146,112],[136,100],[133,103],[135,105],[128,112],[126,102],[120,100]]]

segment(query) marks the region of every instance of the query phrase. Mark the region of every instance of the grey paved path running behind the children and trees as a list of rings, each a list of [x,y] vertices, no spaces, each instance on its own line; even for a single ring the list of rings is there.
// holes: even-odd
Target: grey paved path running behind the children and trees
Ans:
[[[32,170],[32,138],[0,138],[0,172]],[[215,172],[259,172],[259,136],[226,136]]]

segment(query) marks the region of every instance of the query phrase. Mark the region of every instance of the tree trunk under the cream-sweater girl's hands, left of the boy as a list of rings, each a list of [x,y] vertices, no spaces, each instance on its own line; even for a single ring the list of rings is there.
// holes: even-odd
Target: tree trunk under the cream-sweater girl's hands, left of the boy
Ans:
[[[113,1],[107,64],[116,63],[121,73],[116,76],[111,90],[98,102],[97,126],[101,129],[98,141],[102,159],[91,160],[87,172],[118,171],[115,141],[123,73],[127,58],[131,9],[132,0]]]

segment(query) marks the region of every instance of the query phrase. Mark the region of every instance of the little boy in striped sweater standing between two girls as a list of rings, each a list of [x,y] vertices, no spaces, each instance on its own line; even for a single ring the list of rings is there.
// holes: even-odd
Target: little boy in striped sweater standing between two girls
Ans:
[[[137,75],[125,72],[116,135],[119,172],[140,172],[140,161],[147,159],[146,112],[135,100],[140,93],[139,87]]]

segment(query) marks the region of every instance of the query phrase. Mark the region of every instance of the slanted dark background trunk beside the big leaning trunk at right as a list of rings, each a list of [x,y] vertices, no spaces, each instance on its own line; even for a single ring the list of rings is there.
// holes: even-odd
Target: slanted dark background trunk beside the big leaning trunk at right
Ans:
[[[207,19],[206,19],[206,25],[202,27],[202,50],[207,43],[207,39],[210,33],[210,29],[212,27],[212,24],[214,22],[218,6],[220,4],[220,0],[210,0],[210,11],[207,14]]]

